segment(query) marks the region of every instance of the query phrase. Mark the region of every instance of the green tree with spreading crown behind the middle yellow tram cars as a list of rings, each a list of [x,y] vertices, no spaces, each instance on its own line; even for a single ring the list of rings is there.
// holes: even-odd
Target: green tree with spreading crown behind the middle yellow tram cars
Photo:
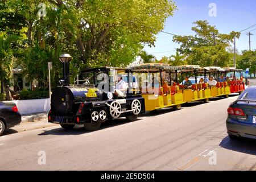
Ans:
[[[195,36],[174,36],[174,42],[180,44],[177,49],[182,55],[187,56],[188,64],[205,66],[226,67],[230,63],[230,55],[226,48],[234,38],[240,37],[240,32],[220,34],[216,27],[210,26],[207,21],[195,22],[192,31]]]

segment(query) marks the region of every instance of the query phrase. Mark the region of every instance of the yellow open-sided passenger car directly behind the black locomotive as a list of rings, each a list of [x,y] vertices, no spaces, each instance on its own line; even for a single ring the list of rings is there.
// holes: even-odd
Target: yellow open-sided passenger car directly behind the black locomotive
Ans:
[[[174,107],[178,110],[183,101],[183,92],[178,85],[172,84],[171,73],[176,73],[177,67],[169,64],[141,64],[133,67],[133,73],[139,74],[139,88],[145,101],[146,111],[164,107]]]

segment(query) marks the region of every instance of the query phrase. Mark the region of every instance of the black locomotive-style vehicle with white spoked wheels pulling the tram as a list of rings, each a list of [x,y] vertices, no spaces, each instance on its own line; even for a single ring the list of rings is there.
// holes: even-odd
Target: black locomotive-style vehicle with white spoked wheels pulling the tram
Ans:
[[[53,90],[48,122],[64,129],[84,125],[97,130],[108,119],[126,117],[135,121],[144,113],[144,98],[138,89],[137,78],[128,68],[94,68],[81,73],[76,85],[69,84],[70,55],[61,55],[63,77],[61,86]],[[126,82],[127,90],[120,97],[115,90],[118,79]],[[78,78],[79,79],[79,78]]]

